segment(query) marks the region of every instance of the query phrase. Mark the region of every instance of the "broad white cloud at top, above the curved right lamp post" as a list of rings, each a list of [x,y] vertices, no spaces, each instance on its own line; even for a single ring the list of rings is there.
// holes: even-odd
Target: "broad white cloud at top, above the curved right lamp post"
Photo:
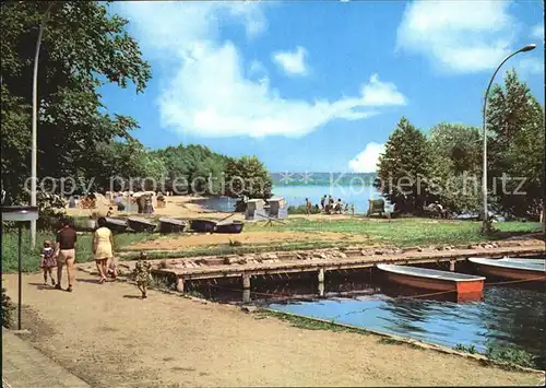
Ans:
[[[413,1],[397,30],[396,47],[428,57],[440,70],[494,69],[513,48],[511,1]]]

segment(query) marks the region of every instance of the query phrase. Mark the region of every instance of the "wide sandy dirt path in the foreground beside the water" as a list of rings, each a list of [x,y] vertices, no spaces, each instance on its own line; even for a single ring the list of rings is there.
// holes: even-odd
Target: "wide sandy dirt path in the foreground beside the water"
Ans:
[[[4,275],[11,296],[16,275]],[[96,387],[536,385],[539,376],[383,344],[373,336],[310,331],[233,306],[98,285],[73,293],[24,277],[24,328],[35,346]],[[16,296],[15,296],[16,297]]]

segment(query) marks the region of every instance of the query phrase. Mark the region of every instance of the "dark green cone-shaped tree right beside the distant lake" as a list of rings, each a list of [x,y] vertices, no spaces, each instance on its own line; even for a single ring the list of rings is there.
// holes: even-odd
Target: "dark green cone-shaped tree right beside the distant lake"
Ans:
[[[425,134],[402,117],[379,157],[375,187],[402,212],[420,213],[428,200],[431,172]]]

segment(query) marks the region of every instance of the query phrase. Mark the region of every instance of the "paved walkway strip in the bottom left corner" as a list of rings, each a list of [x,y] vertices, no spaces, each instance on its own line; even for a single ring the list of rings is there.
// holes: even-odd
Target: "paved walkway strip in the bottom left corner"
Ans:
[[[2,329],[2,388],[90,388],[11,331]]]

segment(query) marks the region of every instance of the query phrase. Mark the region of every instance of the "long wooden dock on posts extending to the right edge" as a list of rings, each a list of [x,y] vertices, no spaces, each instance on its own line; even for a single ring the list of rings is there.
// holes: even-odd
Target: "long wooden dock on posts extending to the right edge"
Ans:
[[[249,290],[252,277],[316,272],[319,283],[323,283],[327,272],[366,269],[377,263],[417,264],[446,262],[449,263],[450,270],[453,271],[458,261],[465,261],[468,257],[544,257],[546,256],[546,249],[544,245],[535,245],[476,249],[397,251],[387,255],[363,255],[361,250],[322,250],[310,251],[307,252],[307,255],[302,255],[302,252],[276,252],[266,255],[269,256],[262,255],[258,260],[256,256],[252,255],[233,255],[224,258],[193,259],[193,261],[188,259],[164,260],[167,268],[153,269],[152,273],[155,277],[176,279],[177,290],[182,293],[185,290],[185,281],[225,278],[240,278],[242,279],[244,290]]]

